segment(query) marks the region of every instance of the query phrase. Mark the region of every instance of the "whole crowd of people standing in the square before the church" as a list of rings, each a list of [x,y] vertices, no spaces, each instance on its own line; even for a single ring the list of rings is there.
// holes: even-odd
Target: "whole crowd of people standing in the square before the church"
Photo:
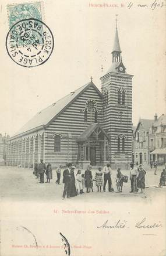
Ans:
[[[156,165],[154,166],[154,168]],[[93,178],[92,172],[91,172],[91,166],[89,165],[84,173],[82,173],[82,170],[77,170],[77,173],[75,175],[75,169],[76,167],[72,163],[68,163],[67,168],[63,170],[63,183],[64,183],[64,189],[63,189],[63,195],[62,199],[65,199],[65,197],[70,198],[73,196],[77,196],[77,194],[83,194],[84,188],[86,187],[86,192],[90,193],[93,192],[93,183],[96,183],[97,192],[101,192],[101,189],[103,187],[103,192],[105,192],[105,188],[108,182],[108,192],[114,192],[114,189],[112,187],[112,169],[110,166],[110,163],[107,163],[106,166],[102,169],[101,167],[98,168],[98,170],[95,173],[95,176]],[[61,170],[62,166],[59,165],[58,168],[56,168],[56,184],[60,185],[60,179],[61,179]],[[156,171],[155,171],[156,172]],[[52,179],[52,167],[51,164],[48,163],[47,166],[43,162],[43,160],[40,161],[40,163],[37,163],[37,161],[34,163],[34,175],[36,175],[36,178],[40,178],[40,183],[44,183],[44,174],[46,175],[47,182],[50,183],[50,180]],[[135,165],[135,163],[130,163],[130,173],[129,173],[129,179],[130,179],[130,185],[131,190],[130,193],[144,193],[145,189],[145,176],[146,176],[146,170],[143,168],[143,165]],[[160,176],[160,186],[165,186],[165,180],[166,180],[166,165],[165,169],[163,169],[163,172],[161,172]],[[121,172],[121,168],[117,169],[116,173],[116,187],[117,192],[121,193],[123,188],[123,182],[128,182],[128,176],[123,175]],[[140,189],[140,192],[139,192]]]

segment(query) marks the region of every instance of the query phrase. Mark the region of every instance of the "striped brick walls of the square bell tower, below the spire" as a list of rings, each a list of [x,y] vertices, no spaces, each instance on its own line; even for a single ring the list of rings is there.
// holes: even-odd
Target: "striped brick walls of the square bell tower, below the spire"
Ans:
[[[125,90],[125,104],[118,104],[118,89]],[[110,135],[110,161],[112,168],[129,167],[132,157],[132,76],[113,72],[101,77],[101,91],[108,91],[108,104],[104,105],[103,128]],[[120,150],[117,138],[120,136]],[[122,150],[122,138],[125,150]]]

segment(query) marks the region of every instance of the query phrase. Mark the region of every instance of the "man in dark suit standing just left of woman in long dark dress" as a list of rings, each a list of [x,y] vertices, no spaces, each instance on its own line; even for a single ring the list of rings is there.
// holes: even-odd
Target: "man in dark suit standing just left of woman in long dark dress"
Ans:
[[[65,199],[66,194],[67,194],[67,198],[70,198],[70,187],[71,187],[71,181],[72,181],[70,168],[72,168],[72,163],[68,163],[68,168],[66,168],[63,171],[63,183],[65,185],[64,185],[62,199]]]

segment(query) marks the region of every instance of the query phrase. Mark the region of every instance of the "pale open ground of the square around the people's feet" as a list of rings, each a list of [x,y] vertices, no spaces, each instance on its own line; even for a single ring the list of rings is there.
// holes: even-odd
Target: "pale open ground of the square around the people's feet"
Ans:
[[[154,169],[146,169],[146,188],[144,194],[129,193],[130,191],[130,180],[128,183],[123,183],[122,193],[109,193],[108,185],[106,187],[107,192],[97,193],[97,188],[94,182],[92,193],[79,194],[72,199],[66,200],[84,200],[84,202],[105,202],[107,200],[116,200],[121,202],[123,200],[129,200],[130,197],[134,197],[135,200],[142,198],[155,197],[157,194],[165,193],[166,187],[158,187],[160,180],[162,166],[158,166],[157,175],[154,175]],[[62,170],[63,172],[63,170]],[[77,170],[75,170],[77,172]],[[92,170],[93,176],[95,169]],[[112,185],[116,192],[116,170],[112,171]],[[84,170],[82,170],[84,173]],[[129,176],[129,170],[122,170],[123,175]],[[61,175],[61,185],[56,185],[56,171],[52,170],[53,179],[51,183],[39,183],[39,180],[33,175],[32,169],[23,169],[9,166],[0,166],[0,193],[1,202],[4,200],[34,200],[34,201],[54,201],[62,200],[63,184]],[[46,182],[45,176],[45,182]],[[85,189],[84,189],[85,190]],[[84,191],[85,192],[85,191]]]

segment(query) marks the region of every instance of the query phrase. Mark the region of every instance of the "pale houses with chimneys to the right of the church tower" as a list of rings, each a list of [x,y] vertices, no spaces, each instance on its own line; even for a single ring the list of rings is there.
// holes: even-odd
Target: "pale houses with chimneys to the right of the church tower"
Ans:
[[[166,115],[157,114],[154,120],[140,118],[133,133],[132,161],[145,166],[158,161],[166,162]]]

